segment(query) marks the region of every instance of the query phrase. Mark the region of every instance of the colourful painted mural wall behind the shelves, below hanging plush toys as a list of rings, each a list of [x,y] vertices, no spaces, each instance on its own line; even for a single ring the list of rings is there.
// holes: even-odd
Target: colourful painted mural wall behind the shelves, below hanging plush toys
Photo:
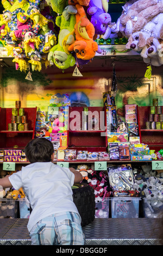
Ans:
[[[150,80],[145,78],[146,64],[140,60],[115,65],[117,78],[116,106],[123,115],[123,106],[136,103],[150,106],[155,97],[163,105],[162,67],[154,67]],[[103,92],[110,90],[112,63],[110,60],[94,59],[92,63],[79,67],[82,77],[73,77],[74,68],[65,72],[52,66],[41,72],[32,72],[33,81],[26,80],[27,74],[16,71],[14,66],[1,68],[1,107],[14,107],[21,100],[22,107],[40,108],[47,111],[49,100],[54,94],[68,94],[72,106],[103,106]]]

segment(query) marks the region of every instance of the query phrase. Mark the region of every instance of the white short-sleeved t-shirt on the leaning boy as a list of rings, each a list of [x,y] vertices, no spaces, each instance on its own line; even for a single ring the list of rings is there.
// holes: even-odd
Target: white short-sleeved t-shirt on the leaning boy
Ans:
[[[66,211],[77,212],[73,203],[74,174],[52,162],[36,162],[9,176],[15,190],[23,188],[32,213],[27,225],[30,231],[42,218]]]

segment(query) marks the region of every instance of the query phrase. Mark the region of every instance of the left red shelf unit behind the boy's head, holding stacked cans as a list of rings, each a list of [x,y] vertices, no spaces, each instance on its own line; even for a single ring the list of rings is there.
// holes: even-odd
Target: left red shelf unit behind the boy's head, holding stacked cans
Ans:
[[[8,124],[11,123],[12,108],[0,108],[0,148],[26,147],[27,143],[34,138],[37,107],[24,108],[24,115],[27,117],[28,131],[8,131]]]

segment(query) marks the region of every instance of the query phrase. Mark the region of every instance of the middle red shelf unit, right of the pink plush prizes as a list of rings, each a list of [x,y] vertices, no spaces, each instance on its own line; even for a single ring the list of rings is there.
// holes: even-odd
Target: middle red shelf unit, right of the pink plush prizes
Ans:
[[[106,151],[106,109],[105,107],[87,107],[87,111],[88,114],[86,114],[83,107],[69,107],[67,148],[87,150],[90,152]],[[95,130],[84,129],[84,114],[87,115],[88,127],[92,127],[92,120],[95,118],[95,121],[97,121],[97,124],[95,124]],[[86,123],[84,125],[86,126]],[[73,129],[71,129],[71,126],[73,126]],[[101,135],[101,133],[105,134]]]

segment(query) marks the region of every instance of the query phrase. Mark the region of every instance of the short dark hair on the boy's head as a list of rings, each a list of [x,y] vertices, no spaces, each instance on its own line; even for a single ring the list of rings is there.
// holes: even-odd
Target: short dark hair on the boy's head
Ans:
[[[54,152],[53,144],[46,138],[35,138],[28,142],[24,153],[30,163],[51,162]]]

